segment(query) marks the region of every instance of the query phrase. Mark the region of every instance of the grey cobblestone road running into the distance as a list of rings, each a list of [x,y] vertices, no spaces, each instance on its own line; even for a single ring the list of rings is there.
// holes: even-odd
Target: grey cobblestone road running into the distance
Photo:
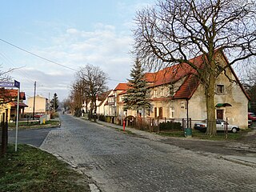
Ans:
[[[256,191],[253,167],[60,118],[61,128],[51,130],[41,148],[82,170],[102,191]]]

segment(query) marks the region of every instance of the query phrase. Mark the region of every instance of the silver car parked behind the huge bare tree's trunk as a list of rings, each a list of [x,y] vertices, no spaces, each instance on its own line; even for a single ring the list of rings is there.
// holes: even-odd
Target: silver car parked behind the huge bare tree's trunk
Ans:
[[[202,132],[206,132],[206,127],[207,126],[207,122],[196,122],[194,123],[194,129],[195,130],[200,130]],[[224,131],[224,121],[222,119],[216,119],[216,128],[218,131]],[[237,133],[240,128],[239,126],[235,126],[235,125],[230,125],[228,124],[228,131],[231,131],[232,133]]]

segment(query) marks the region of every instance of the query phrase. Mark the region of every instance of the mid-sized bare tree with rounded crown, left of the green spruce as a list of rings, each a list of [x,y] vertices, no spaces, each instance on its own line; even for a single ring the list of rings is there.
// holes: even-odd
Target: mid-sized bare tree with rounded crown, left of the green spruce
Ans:
[[[107,90],[107,74],[97,66],[87,65],[78,71],[77,76],[80,78],[80,81],[84,86],[86,96],[90,98],[92,103],[92,106],[90,107],[90,114],[96,114],[97,95],[102,94]]]

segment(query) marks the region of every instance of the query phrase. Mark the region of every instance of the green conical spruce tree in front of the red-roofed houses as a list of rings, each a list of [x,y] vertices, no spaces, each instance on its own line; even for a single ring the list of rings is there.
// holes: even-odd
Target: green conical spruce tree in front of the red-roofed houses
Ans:
[[[150,109],[150,102],[148,102],[148,94],[146,87],[146,80],[142,64],[136,60],[130,72],[130,79],[128,80],[128,90],[124,96],[125,103],[124,110],[145,110]]]

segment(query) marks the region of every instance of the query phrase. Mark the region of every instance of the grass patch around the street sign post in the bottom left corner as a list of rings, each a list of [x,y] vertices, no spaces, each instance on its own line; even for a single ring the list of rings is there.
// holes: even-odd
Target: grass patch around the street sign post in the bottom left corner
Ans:
[[[86,177],[52,154],[32,146],[8,145],[0,158],[0,191],[90,191]]]

